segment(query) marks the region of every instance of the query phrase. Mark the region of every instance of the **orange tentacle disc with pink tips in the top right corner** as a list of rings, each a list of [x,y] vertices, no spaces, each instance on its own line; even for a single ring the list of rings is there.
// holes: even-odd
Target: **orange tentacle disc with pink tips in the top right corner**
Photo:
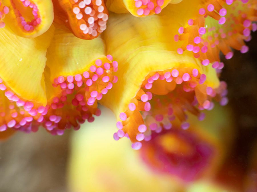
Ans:
[[[256,24],[252,23],[256,20],[256,1],[225,2],[206,1],[197,16],[190,18],[186,26],[178,29],[174,41],[183,41],[177,50],[178,54],[192,51],[195,58],[199,58],[203,65],[208,65],[220,61],[220,51],[226,59],[230,59],[233,56],[230,47],[241,53],[248,51],[244,40],[249,41],[250,31],[257,30]]]

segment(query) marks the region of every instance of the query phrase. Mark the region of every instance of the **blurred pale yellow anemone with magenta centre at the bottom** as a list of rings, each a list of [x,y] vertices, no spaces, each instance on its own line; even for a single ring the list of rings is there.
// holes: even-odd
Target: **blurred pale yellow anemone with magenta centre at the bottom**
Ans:
[[[201,182],[203,179],[204,181],[212,179],[211,176],[215,174],[216,170],[220,169],[224,156],[230,150],[230,144],[234,136],[230,111],[215,106],[212,111],[208,111],[204,121],[198,121],[196,117],[190,115],[189,121],[192,129],[176,129],[176,132],[180,132],[180,134],[174,134],[175,140],[179,141],[178,143],[174,142],[174,139],[171,142],[169,142],[170,140],[165,142],[165,135],[161,133],[158,139],[164,139],[162,142],[158,142],[156,146],[154,146],[156,140],[149,141],[150,143],[145,142],[142,149],[136,151],[131,150],[130,141],[126,139],[119,141],[119,144],[115,143],[116,141],[110,137],[116,122],[115,116],[107,108],[101,107],[101,111],[102,115],[98,117],[98,121],[88,125],[87,129],[81,129],[72,135],[68,166],[68,187],[70,191],[129,192],[138,191],[138,189],[140,191],[188,191],[188,188],[191,189],[191,185],[195,185],[196,182]],[[170,133],[174,132],[171,131]],[[188,147],[180,145],[182,139],[185,138],[181,138],[179,135],[184,134],[190,135],[190,139],[197,138],[194,139],[196,144]],[[184,143],[190,145],[190,139],[185,139]],[[208,146],[213,149],[212,152],[209,152]],[[195,149],[192,150],[196,157],[192,163],[188,162],[190,158],[184,152],[186,148],[190,150],[197,148],[199,150],[197,152],[194,152]],[[166,151],[164,152],[164,150]],[[170,158],[172,153],[175,160]],[[198,156],[195,153],[198,153]],[[186,157],[183,157],[183,154]],[[208,154],[210,154],[210,158],[200,158]],[[169,165],[167,166],[169,169],[163,172],[164,166],[167,165],[162,164],[164,158],[170,158],[169,164],[174,163],[174,161],[180,162],[181,172],[185,171],[183,177],[174,174],[175,170],[178,170],[178,166],[174,167],[173,173]],[[197,158],[199,163],[196,162]],[[207,161],[204,162],[206,159]],[[185,162],[182,162],[183,160]],[[202,166],[202,170],[195,172],[197,163],[208,163],[208,166]],[[189,173],[190,176],[186,174],[190,170],[194,171],[195,177],[199,180],[194,180],[194,182],[183,180],[192,177],[192,174]],[[135,182],[137,185],[135,185]],[[218,189],[215,191],[218,191]]]

